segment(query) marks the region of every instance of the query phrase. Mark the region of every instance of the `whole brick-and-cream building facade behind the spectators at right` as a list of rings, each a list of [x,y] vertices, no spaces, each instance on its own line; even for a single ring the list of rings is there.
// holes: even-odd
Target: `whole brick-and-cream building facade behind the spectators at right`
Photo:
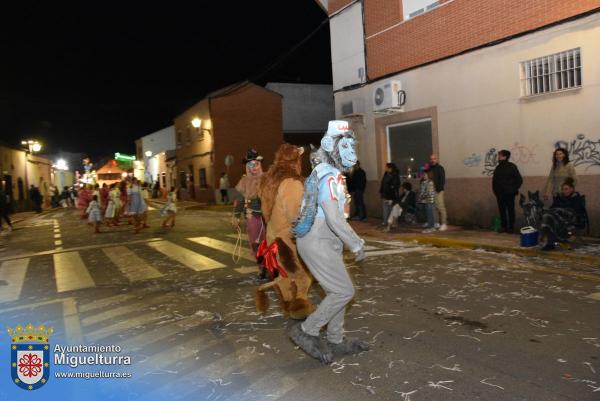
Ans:
[[[527,191],[543,189],[553,149],[566,146],[600,228],[600,0],[317,1],[330,15],[336,117],[359,136],[371,214],[385,163],[408,179],[436,152],[450,221],[488,226],[497,151],[512,150]],[[390,87],[405,102],[379,110],[375,94]]]

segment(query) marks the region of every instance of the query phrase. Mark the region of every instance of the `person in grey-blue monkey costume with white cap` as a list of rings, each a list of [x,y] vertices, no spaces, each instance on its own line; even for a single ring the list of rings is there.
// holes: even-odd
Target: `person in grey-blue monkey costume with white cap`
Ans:
[[[294,225],[298,252],[327,296],[317,310],[290,331],[291,340],[310,356],[331,363],[334,355],[368,350],[368,344],[344,336],[346,305],[354,285],[342,256],[346,245],[356,261],[364,259],[364,241],[346,219],[349,196],[342,176],[356,163],[354,133],[346,121],[330,121],[321,147],[311,155],[313,171]],[[319,337],[327,325],[327,340]]]

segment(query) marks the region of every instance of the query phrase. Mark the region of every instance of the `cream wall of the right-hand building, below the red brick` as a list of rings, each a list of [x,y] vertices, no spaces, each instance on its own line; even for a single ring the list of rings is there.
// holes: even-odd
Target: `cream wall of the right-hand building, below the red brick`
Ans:
[[[577,47],[582,55],[582,88],[521,98],[520,62]],[[449,177],[485,176],[485,155],[491,148],[511,150],[523,175],[545,176],[556,142],[577,141],[578,135],[588,151],[575,155],[582,161],[577,173],[600,174],[598,14],[389,79],[402,81],[407,93],[405,111],[437,107],[439,153]],[[342,117],[343,102],[362,98],[367,105],[364,120],[355,130],[361,164],[371,180],[379,177],[376,116],[370,110],[373,90],[382,83],[335,95],[338,117]],[[478,159],[479,163],[473,163]]]

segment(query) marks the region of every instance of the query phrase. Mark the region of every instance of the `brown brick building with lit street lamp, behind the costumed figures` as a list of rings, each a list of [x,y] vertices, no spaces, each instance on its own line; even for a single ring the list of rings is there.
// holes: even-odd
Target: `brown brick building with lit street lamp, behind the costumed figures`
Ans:
[[[281,95],[248,82],[235,84],[196,103],[174,125],[175,182],[182,198],[212,203],[219,199],[221,173],[228,173],[232,186],[245,173],[241,160],[249,148],[263,155],[265,169],[273,161],[283,142]]]

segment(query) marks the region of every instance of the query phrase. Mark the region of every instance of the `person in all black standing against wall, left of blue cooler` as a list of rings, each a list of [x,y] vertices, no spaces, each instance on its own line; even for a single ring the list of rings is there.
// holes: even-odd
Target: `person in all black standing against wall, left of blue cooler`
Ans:
[[[492,177],[492,190],[496,195],[502,232],[512,233],[515,229],[515,196],[523,184],[523,178],[517,166],[509,161],[510,152],[498,152],[498,165]]]

